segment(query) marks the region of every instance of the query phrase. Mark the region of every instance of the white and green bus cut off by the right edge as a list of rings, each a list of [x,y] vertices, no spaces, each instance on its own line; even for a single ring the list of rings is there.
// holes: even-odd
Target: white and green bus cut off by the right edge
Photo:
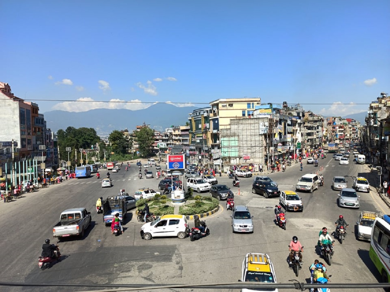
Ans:
[[[370,258],[374,263],[383,283],[390,283],[390,215],[377,217],[374,221],[371,242]]]

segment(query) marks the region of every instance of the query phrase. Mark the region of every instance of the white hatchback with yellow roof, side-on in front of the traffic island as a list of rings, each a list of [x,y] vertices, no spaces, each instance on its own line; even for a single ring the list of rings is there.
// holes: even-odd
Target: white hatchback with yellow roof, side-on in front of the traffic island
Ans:
[[[150,240],[153,237],[177,236],[179,239],[187,237],[189,232],[188,221],[184,215],[164,215],[153,222],[142,225],[140,234],[142,239]]]

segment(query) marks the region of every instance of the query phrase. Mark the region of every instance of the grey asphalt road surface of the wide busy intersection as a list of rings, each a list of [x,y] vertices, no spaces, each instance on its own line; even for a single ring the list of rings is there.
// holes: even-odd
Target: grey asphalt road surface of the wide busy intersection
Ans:
[[[328,274],[332,274],[333,283],[376,283],[378,280],[375,277],[378,274],[368,256],[369,242],[356,240],[354,223],[362,210],[388,213],[388,209],[374,192],[359,193],[360,210],[340,209],[337,206],[337,192],[330,188],[330,182],[335,175],[347,176],[348,186],[351,186],[353,176],[368,171],[367,166],[355,165],[352,159],[350,158],[349,166],[339,165],[331,156],[320,160],[320,166],[324,166],[326,185],[312,194],[300,193],[305,210],[302,213],[287,214],[286,231],[273,223],[273,207],[278,204],[277,198],[265,199],[252,194],[251,178],[241,179],[241,195],[238,196],[238,189],[231,185],[232,180],[218,177],[220,183],[225,183],[234,190],[236,204],[246,204],[249,207],[254,216],[255,231],[253,234],[232,234],[230,212],[225,210],[223,201],[222,210],[207,218],[211,235],[196,242],[177,238],[144,241],[139,234],[142,223],[137,222],[133,216],[128,216],[124,225],[125,232],[119,237],[113,237],[110,229],[103,225],[102,216],[94,211],[99,196],[105,198],[114,195],[121,188],[126,189],[128,193],[133,193],[140,187],[157,189],[158,180],[155,178],[142,180],[137,178],[138,168],[134,164],[128,172],[122,168],[119,173],[112,173],[113,188],[102,189],[101,180],[90,177],[41,189],[15,202],[0,204],[0,228],[3,234],[0,240],[2,250],[0,264],[6,267],[2,271],[2,281],[142,284],[199,283],[203,280],[207,283],[227,283],[240,278],[242,260],[248,252],[268,253],[275,265],[278,282],[286,283],[291,279],[306,281],[309,277],[307,267],[314,259],[319,258],[314,249],[319,230],[324,226],[332,230],[334,221],[339,214],[343,214],[350,225],[349,235],[342,245],[335,242],[335,256],[332,266],[328,267]],[[155,172],[155,169],[152,169]],[[318,169],[319,167],[313,165],[304,165],[303,172],[300,172],[299,165],[296,164],[287,168],[285,173],[277,172],[269,176],[278,182],[281,190],[294,190],[294,185],[303,173],[315,172]],[[105,173],[102,172],[103,176]],[[40,271],[37,257],[41,245],[44,239],[51,238],[51,229],[58,221],[60,212],[67,208],[82,206],[87,207],[92,213],[94,223],[92,228],[86,232],[82,240],[61,241],[62,254],[67,258],[51,269]],[[193,226],[192,222],[190,226]],[[285,262],[288,254],[287,245],[293,235],[297,235],[305,246],[304,268],[299,277],[295,277]],[[16,287],[9,289],[20,290],[21,288]]]

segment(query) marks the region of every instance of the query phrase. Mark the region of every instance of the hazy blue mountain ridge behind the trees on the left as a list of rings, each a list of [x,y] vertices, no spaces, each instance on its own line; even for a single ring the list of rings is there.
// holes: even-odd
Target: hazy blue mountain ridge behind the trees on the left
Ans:
[[[78,113],[54,110],[44,113],[44,117],[47,123],[46,126],[51,131],[65,130],[69,126],[75,128],[87,127],[94,128],[98,135],[105,136],[113,130],[127,128],[132,131],[136,126],[142,125],[143,122],[157,131],[163,131],[172,125],[185,125],[188,122],[188,114],[196,108],[195,106],[179,108],[172,104],[157,103],[143,110],[99,108]]]

